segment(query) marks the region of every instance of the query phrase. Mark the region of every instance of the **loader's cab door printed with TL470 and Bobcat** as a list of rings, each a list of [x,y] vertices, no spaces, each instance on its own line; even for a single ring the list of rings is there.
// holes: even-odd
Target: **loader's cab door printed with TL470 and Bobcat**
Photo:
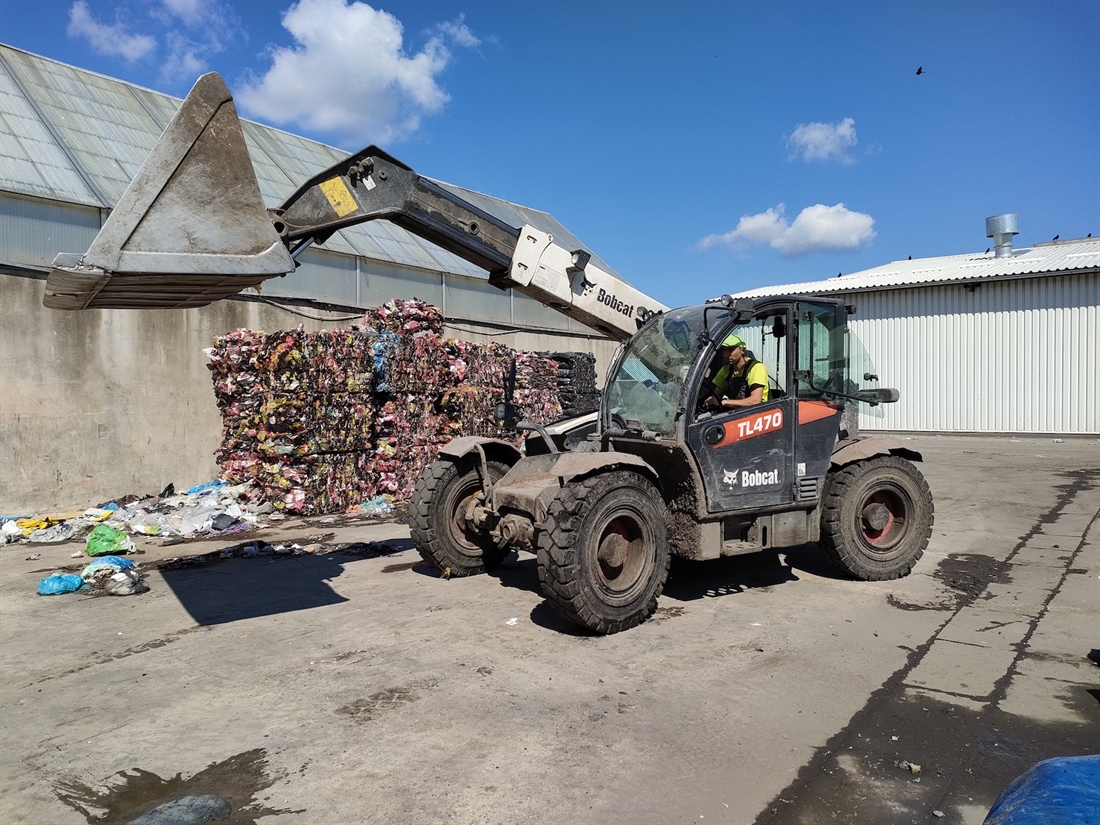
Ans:
[[[780,319],[777,322],[777,319]],[[708,394],[702,378],[713,377],[721,359],[700,371],[695,414],[685,428],[688,446],[695,457],[706,490],[708,513],[756,509],[791,504],[798,484],[794,476],[794,433],[798,421],[788,361],[785,310],[724,332],[745,339],[757,361],[768,370],[772,398],[754,407],[710,413],[698,404]],[[778,396],[778,397],[777,397]]]

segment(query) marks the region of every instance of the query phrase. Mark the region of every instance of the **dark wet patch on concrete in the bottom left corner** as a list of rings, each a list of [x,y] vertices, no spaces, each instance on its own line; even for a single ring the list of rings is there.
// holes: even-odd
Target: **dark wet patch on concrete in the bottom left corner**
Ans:
[[[189,779],[179,773],[162,779],[151,771],[133,768],[119,771],[103,788],[66,779],[54,793],[95,825],[135,822],[200,825],[208,821],[258,825],[257,820],[263,816],[305,813],[272,809],[253,801],[279,779],[280,776],[268,773],[267,752],[256,748],[213,762]]]

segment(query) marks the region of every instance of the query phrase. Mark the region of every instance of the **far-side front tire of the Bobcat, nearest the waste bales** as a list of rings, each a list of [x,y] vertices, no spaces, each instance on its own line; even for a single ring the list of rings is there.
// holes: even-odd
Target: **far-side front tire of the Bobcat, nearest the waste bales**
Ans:
[[[490,461],[487,466],[493,483],[508,472],[508,465],[499,461]],[[466,525],[466,505],[482,488],[476,455],[437,459],[413,488],[408,513],[413,541],[420,557],[448,578],[493,570],[507,554],[488,534]]]

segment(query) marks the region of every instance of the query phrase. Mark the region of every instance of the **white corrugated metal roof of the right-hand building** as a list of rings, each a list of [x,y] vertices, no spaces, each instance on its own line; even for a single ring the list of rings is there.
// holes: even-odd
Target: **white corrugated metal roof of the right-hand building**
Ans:
[[[783,284],[737,293],[744,297],[766,295],[833,295],[878,289],[905,289],[927,284],[1036,277],[1100,270],[1100,239],[1040,243],[1031,249],[1013,250],[1011,256],[993,253],[944,255],[912,261],[894,261],[872,270],[838,275],[825,280]]]

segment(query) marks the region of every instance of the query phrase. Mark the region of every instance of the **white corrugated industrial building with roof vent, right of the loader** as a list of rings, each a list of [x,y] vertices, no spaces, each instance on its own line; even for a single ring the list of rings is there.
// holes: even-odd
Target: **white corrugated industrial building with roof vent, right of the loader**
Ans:
[[[987,220],[986,252],[741,295],[829,295],[855,306],[851,332],[882,384],[901,391],[899,403],[860,416],[862,429],[1098,435],[1100,240],[1013,249],[1019,220]]]

